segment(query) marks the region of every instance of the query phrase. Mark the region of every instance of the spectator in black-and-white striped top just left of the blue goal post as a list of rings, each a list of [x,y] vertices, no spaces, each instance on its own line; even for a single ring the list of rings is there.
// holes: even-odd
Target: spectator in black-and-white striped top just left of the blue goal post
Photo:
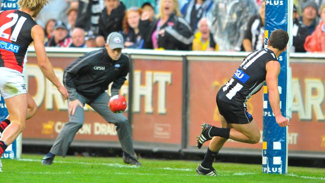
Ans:
[[[247,24],[242,46],[244,51],[252,51],[264,47],[264,22],[265,22],[265,0],[259,7],[259,14],[253,15]]]

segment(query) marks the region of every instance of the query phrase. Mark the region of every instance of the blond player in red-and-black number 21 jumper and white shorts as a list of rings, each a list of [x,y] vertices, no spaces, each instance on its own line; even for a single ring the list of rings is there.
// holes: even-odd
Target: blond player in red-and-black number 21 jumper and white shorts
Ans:
[[[68,96],[46,56],[43,28],[33,20],[46,3],[47,0],[19,0],[20,9],[0,11],[0,94],[9,113],[0,122],[0,157],[37,109],[22,75],[24,56],[32,41],[41,71],[65,99]]]

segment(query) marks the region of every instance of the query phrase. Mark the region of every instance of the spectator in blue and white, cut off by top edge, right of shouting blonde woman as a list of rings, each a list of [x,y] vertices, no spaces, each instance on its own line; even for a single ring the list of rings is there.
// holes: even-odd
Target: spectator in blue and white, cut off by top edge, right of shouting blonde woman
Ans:
[[[193,31],[197,29],[198,20],[202,17],[206,17],[212,4],[213,0],[188,0],[181,8],[180,12]]]

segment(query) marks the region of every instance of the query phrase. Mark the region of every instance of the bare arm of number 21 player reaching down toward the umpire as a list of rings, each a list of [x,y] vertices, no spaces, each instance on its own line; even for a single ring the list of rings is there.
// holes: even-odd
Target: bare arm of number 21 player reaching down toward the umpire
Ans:
[[[44,47],[44,31],[40,25],[35,25],[31,28],[31,37],[34,41],[34,48],[37,57],[37,63],[45,77],[48,78],[57,88],[57,90],[63,95],[64,99],[67,99],[68,93],[66,88],[58,81],[52,64],[49,62],[45,47]]]

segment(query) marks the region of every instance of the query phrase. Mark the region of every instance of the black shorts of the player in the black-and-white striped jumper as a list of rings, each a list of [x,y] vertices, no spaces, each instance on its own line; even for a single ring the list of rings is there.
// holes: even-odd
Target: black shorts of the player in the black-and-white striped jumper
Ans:
[[[235,124],[247,124],[253,120],[253,117],[244,103],[229,103],[222,100],[223,91],[222,88],[216,95],[216,105],[218,106],[219,113],[223,115],[227,123]],[[223,96],[224,97],[224,96]]]

